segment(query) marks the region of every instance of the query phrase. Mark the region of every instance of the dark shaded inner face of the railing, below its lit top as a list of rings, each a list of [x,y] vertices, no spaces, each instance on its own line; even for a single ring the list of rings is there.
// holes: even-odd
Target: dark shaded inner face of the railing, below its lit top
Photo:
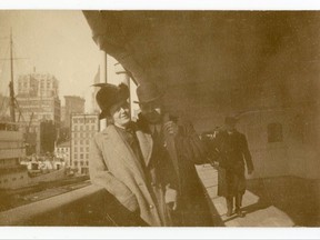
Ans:
[[[148,227],[138,213],[131,213],[104,190],[43,212],[17,226]]]

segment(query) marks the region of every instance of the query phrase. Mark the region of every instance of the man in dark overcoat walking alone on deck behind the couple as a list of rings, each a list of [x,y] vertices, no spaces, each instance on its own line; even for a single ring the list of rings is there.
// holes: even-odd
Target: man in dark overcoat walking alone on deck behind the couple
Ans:
[[[221,130],[214,139],[220,168],[218,196],[226,198],[228,217],[233,213],[233,202],[236,203],[236,213],[239,217],[243,217],[241,204],[242,196],[246,191],[246,166],[248,174],[253,171],[247,138],[236,129],[237,121],[238,119],[234,117],[227,117],[226,129]]]

